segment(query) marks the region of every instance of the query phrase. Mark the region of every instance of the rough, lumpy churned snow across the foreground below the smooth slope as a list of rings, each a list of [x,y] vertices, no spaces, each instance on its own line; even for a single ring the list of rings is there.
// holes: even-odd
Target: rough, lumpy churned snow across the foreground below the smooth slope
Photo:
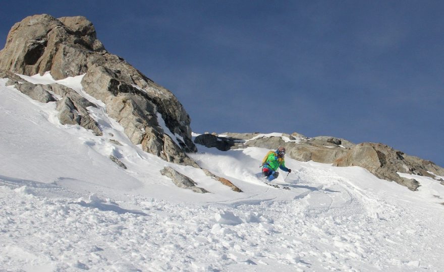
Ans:
[[[394,199],[356,192],[353,186],[325,184],[332,192],[236,207],[172,203],[140,195],[116,201],[115,205],[139,207],[143,213],[103,210],[0,186],[0,267],[46,271],[436,271],[442,267],[437,242],[442,226],[431,224],[427,215],[421,215],[422,208],[412,211]]]

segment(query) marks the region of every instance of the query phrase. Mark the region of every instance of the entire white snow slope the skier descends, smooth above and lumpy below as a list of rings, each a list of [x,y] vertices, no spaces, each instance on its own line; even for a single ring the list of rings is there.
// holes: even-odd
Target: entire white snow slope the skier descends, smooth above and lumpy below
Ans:
[[[286,159],[285,191],[256,178],[267,150],[198,146],[190,156],[237,193],[132,145],[79,79],[59,83],[96,103],[102,137],[0,80],[1,271],[442,271],[436,180],[414,176],[412,192],[363,168]],[[211,193],[177,188],[167,165]]]

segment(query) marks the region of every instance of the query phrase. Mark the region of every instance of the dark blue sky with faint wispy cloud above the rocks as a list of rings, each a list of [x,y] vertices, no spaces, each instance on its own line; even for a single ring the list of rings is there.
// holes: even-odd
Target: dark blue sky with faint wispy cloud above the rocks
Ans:
[[[1,6],[3,44],[29,15],[87,17],[109,52],[179,98],[195,132],[331,135],[444,166],[444,2]]]

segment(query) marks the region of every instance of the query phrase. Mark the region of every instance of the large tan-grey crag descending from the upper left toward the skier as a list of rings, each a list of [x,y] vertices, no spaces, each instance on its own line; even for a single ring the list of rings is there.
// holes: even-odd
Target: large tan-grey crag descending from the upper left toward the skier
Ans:
[[[84,90],[106,104],[107,113],[122,124],[135,145],[142,144],[146,152],[165,160],[197,166],[185,154],[195,152],[196,147],[191,141],[190,118],[182,104],[124,59],[107,52],[85,17],[56,19],[44,14],[15,24],[0,51],[2,69],[28,76],[49,71],[56,80],[85,74]],[[72,98],[61,104],[67,123],[90,123],[87,118],[75,116]],[[166,127],[159,124],[159,118]]]

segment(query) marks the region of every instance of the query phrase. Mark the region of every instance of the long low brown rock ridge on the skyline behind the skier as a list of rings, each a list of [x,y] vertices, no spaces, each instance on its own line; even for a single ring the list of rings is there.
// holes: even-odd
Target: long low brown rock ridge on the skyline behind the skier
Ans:
[[[287,156],[292,159],[329,163],[338,167],[360,166],[378,178],[395,181],[413,191],[420,186],[418,181],[403,178],[398,172],[432,177],[444,185],[444,180],[435,176],[444,176],[444,168],[382,144],[355,145],[340,138],[327,136],[307,138],[296,132],[291,135],[283,133],[280,136],[259,133],[224,133],[224,135],[227,137],[198,135],[195,143],[219,150],[247,147],[274,150],[283,146],[287,150]]]

